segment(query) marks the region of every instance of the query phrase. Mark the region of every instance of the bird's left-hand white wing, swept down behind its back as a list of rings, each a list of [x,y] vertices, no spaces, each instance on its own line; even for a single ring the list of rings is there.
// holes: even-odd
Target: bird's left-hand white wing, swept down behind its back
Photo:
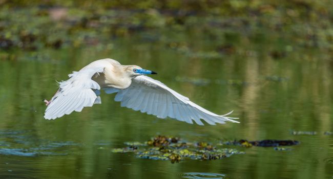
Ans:
[[[73,72],[67,81],[59,82],[59,91],[52,97],[51,103],[45,110],[45,119],[55,119],[69,115],[74,110],[80,112],[84,107],[100,104],[100,98],[96,93],[100,86],[92,80],[96,73],[102,73],[103,66],[84,68]],[[94,92],[92,89],[97,89]]]

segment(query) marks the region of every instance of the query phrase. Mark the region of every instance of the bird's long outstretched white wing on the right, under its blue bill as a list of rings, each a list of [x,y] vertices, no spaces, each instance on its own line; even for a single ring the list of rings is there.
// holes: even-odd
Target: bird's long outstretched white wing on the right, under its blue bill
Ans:
[[[116,92],[109,90],[109,93]],[[119,90],[115,96],[115,101],[120,101],[121,106],[140,110],[141,113],[147,113],[158,118],[174,118],[193,124],[203,125],[200,119],[203,119],[211,125],[215,123],[225,123],[225,121],[237,122],[226,117],[226,115],[217,115],[193,103],[185,96],[173,91],[171,88],[147,76],[138,76],[132,80],[130,87]]]

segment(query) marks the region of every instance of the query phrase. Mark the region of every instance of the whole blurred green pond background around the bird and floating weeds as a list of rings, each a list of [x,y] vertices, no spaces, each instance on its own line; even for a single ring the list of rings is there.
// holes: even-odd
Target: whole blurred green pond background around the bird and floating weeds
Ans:
[[[329,0],[0,0],[0,177],[333,177],[332,9]],[[42,100],[56,91],[55,80],[101,58],[154,70],[195,103],[217,114],[234,110],[241,123],[160,120],[105,94],[102,105],[45,120]],[[111,152],[158,134],[301,144],[235,146],[246,154],[178,164]]]

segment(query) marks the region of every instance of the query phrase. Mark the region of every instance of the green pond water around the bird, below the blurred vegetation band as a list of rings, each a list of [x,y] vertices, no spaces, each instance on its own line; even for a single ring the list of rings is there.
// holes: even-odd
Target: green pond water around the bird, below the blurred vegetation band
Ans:
[[[283,41],[242,39],[235,52],[224,54],[214,50],[219,41],[196,31],[163,35],[150,40],[137,34],[85,48],[6,51],[0,59],[0,177],[182,178],[188,172],[229,178],[333,177],[333,135],[324,135],[333,130],[330,54]],[[287,55],[274,58],[272,49],[286,49]],[[217,114],[234,110],[232,117],[239,117],[240,124],[161,120],[120,107],[114,95],[106,94],[101,105],[45,120],[42,100],[57,90],[55,80],[101,58],[156,71],[155,79],[197,104]],[[175,164],[111,152],[124,142],[144,142],[159,134],[197,142],[278,139],[300,145],[288,151],[226,146],[246,154]]]

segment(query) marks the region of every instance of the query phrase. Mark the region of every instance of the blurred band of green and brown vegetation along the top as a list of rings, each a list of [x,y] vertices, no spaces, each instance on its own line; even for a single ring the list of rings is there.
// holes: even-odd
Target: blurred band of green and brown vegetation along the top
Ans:
[[[247,54],[250,44],[256,43],[272,46],[266,55],[277,60],[300,49],[333,49],[332,14],[326,1],[27,2],[0,2],[1,49],[105,45],[114,38],[138,33],[146,34],[143,41],[164,42],[186,57],[201,59]],[[204,34],[211,47],[195,47],[189,38],[197,36],[188,36],[192,33]]]

